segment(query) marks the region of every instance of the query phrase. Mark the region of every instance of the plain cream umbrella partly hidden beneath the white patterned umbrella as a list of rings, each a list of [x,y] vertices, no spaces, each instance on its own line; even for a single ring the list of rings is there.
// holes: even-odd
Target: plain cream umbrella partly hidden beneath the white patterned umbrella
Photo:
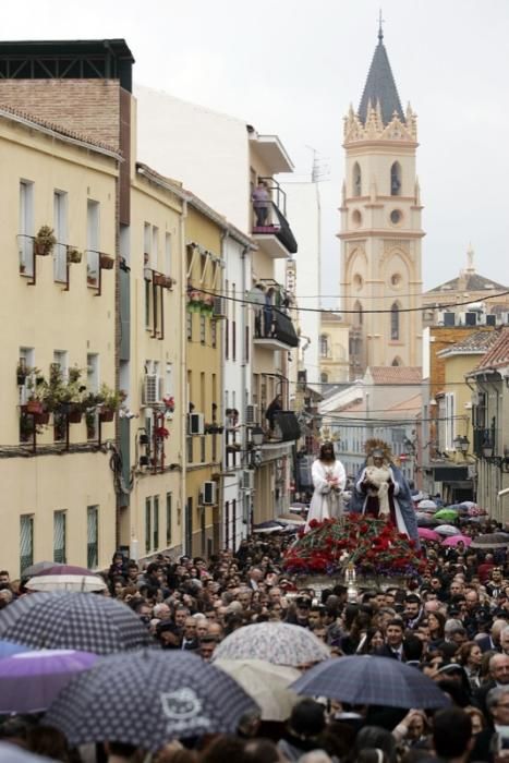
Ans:
[[[262,711],[262,720],[287,720],[299,697],[288,687],[301,675],[296,668],[265,659],[216,659],[215,667],[235,679]]]

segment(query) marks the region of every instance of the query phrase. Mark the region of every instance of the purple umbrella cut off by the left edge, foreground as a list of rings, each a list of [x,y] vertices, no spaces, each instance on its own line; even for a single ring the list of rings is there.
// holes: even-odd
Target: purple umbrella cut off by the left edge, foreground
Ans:
[[[0,714],[47,710],[71,678],[99,659],[72,650],[25,652],[0,662]]]

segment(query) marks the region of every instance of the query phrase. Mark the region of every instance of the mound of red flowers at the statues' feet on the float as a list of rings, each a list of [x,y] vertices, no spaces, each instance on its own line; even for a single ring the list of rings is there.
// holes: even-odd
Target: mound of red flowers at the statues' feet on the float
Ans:
[[[344,577],[347,569],[364,578],[419,576],[426,561],[410,540],[386,519],[347,514],[312,520],[287,550],[283,568],[290,574]]]

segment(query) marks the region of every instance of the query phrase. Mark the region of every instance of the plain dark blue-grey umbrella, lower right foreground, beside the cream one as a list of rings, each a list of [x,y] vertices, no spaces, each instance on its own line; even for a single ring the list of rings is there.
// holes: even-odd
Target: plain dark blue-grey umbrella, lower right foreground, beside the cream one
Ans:
[[[387,657],[327,659],[307,670],[290,688],[298,694],[328,697],[355,705],[410,710],[449,704],[431,678],[410,665]]]

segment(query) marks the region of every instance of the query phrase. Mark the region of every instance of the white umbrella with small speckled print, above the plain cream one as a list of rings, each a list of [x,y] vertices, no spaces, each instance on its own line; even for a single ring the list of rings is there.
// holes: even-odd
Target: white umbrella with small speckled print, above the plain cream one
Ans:
[[[323,641],[289,622],[259,622],[238,628],[214,651],[213,659],[266,659],[275,665],[308,665],[330,657]]]

